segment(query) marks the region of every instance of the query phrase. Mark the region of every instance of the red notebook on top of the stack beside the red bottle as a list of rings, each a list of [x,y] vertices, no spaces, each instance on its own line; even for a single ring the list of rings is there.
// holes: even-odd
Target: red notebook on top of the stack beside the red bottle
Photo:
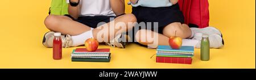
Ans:
[[[110,49],[97,49],[94,52],[89,52],[86,48],[77,48],[74,53],[110,53]]]

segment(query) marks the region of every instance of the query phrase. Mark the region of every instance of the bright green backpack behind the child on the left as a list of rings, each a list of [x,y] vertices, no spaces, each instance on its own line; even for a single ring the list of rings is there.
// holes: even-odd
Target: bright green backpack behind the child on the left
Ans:
[[[66,0],[52,0],[49,14],[65,15],[68,14],[68,3]]]

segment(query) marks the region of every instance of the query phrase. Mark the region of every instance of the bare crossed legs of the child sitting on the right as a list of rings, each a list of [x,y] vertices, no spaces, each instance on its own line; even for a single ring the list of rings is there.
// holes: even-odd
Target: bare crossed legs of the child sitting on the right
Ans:
[[[183,39],[188,38],[191,36],[191,30],[186,24],[181,24],[181,23],[171,23],[168,26],[166,26],[163,30],[163,34],[153,32],[151,30],[139,30],[136,33],[135,39],[138,41],[138,43],[143,44],[143,45],[148,45],[152,44],[155,41],[153,40],[155,33],[158,35],[157,43],[158,45],[169,45],[169,37],[170,36],[175,36],[175,31],[177,31],[176,36],[180,36]],[[151,34],[150,34],[151,33]],[[147,37],[153,37],[153,38],[147,38]],[[145,39],[146,38],[146,39]],[[152,40],[148,40],[152,39]],[[156,48],[156,45],[151,48]]]

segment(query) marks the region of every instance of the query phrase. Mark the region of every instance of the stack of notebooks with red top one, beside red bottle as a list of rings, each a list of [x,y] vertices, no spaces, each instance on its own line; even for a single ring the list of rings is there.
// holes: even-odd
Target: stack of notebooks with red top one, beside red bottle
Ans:
[[[89,52],[85,48],[74,49],[71,54],[72,61],[82,62],[110,62],[110,49],[97,49]]]

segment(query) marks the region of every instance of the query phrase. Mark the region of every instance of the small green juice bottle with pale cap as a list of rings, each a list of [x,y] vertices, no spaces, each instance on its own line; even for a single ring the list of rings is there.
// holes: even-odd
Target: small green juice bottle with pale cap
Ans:
[[[201,40],[201,60],[202,61],[209,61],[210,60],[210,42],[209,42],[209,35],[203,34]]]

